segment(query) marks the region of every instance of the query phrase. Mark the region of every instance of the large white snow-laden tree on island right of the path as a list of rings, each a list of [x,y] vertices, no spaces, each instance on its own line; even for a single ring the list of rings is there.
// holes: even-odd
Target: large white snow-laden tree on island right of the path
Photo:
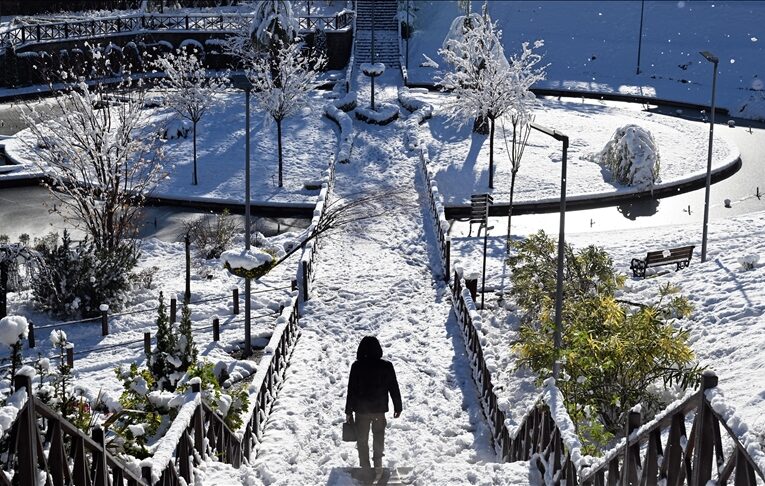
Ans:
[[[511,109],[514,95],[508,76],[509,64],[496,28],[484,5],[483,14],[466,17],[471,28],[447,38],[438,52],[453,70],[438,80],[452,91],[445,109],[449,119],[462,127],[471,119],[489,119],[489,187],[494,187],[494,126]],[[455,19],[457,22],[457,19]]]

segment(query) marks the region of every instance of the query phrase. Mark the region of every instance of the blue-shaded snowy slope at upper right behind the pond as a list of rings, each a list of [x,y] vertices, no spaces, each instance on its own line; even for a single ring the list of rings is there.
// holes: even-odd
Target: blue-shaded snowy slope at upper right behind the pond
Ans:
[[[457,2],[414,2],[417,19],[409,46],[412,82],[432,82],[437,69],[420,67],[423,54],[445,68],[438,49],[459,15]],[[472,2],[480,12],[483,2]],[[641,2],[526,2],[490,0],[505,52],[543,39],[549,63],[544,88],[655,96],[709,105],[712,64],[720,59],[717,104],[732,115],[765,119],[765,3],[647,1],[637,70]]]

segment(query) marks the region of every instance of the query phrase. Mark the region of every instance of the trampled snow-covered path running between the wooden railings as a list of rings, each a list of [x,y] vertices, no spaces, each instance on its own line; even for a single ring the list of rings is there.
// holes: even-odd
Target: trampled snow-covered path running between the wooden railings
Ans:
[[[395,91],[380,92],[394,102]],[[432,273],[423,181],[415,157],[403,151],[403,123],[355,123],[351,163],[338,166],[334,197],[398,192],[387,199],[384,216],[322,240],[302,334],[264,442],[242,480],[353,484],[340,471],[358,466],[355,445],[340,437],[347,376],[361,338],[375,335],[396,368],[404,404],[399,419],[388,415],[386,467],[414,468],[415,484],[528,484],[525,463],[494,463],[448,292]]]

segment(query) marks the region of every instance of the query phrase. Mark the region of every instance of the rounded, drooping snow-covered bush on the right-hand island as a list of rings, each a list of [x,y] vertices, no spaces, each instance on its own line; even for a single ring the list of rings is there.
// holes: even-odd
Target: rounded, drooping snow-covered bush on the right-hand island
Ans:
[[[617,128],[605,148],[590,158],[620,184],[647,189],[660,181],[659,147],[651,132],[637,125]]]

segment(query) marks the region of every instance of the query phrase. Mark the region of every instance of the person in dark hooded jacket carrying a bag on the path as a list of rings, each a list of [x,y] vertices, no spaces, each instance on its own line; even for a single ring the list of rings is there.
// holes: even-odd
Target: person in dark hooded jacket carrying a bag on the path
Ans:
[[[359,343],[356,361],[351,365],[345,401],[346,421],[353,423],[353,414],[356,413],[356,446],[359,450],[359,464],[366,474],[372,472],[369,464],[371,427],[375,474],[382,475],[388,395],[393,400],[393,417],[398,418],[402,407],[396,370],[390,361],[382,359],[380,341],[376,337],[366,336]]]

